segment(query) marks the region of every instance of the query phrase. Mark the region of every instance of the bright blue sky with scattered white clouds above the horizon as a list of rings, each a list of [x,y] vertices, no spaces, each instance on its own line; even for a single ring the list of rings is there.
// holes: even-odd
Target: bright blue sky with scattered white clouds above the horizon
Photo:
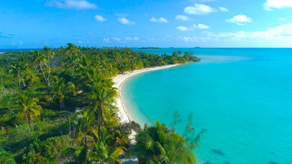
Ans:
[[[292,47],[292,0],[0,0],[0,48]]]

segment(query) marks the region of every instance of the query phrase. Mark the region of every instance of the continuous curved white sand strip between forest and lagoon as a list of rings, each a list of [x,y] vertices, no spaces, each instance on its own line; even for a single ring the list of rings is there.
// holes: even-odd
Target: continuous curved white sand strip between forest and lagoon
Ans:
[[[121,92],[123,83],[129,77],[132,77],[132,76],[139,74],[139,73],[145,73],[147,71],[161,70],[161,69],[170,68],[170,67],[174,67],[174,66],[178,66],[178,65],[180,65],[180,64],[172,64],[172,65],[166,65],[166,66],[145,68],[145,69],[141,69],[141,70],[134,70],[134,71],[129,71],[129,72],[126,72],[123,74],[118,74],[117,76],[113,77],[112,81],[115,83],[113,85],[113,87],[118,88],[118,92],[119,92],[119,97],[116,98],[116,101],[117,101],[116,106],[119,108],[118,116],[120,118],[120,122],[121,123],[128,123],[130,121],[135,121],[135,118],[129,114],[128,108],[126,107],[126,104],[124,103],[123,95]]]

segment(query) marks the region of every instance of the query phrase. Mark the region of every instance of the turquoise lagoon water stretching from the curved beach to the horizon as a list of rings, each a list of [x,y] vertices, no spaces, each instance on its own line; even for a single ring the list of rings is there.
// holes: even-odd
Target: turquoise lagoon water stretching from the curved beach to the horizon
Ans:
[[[292,164],[292,49],[181,50],[201,62],[138,74],[123,85],[137,121],[170,124],[178,111],[183,133],[192,113],[196,131],[207,130],[195,150],[199,164]]]

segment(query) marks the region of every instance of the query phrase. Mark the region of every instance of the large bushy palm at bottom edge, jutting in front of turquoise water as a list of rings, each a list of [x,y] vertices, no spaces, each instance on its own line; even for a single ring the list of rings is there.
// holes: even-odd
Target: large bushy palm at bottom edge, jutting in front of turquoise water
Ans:
[[[137,144],[130,149],[130,154],[139,157],[139,164],[197,163],[195,153],[188,147],[188,141],[159,121],[155,126],[140,131],[136,141]]]

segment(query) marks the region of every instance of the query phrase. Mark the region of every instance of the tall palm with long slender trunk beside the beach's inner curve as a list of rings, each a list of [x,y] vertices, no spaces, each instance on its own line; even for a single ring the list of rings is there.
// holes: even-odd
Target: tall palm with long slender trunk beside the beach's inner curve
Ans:
[[[116,109],[113,104],[116,101],[115,97],[118,97],[119,94],[117,88],[106,86],[101,82],[93,83],[89,85],[89,88],[90,91],[87,93],[88,108],[95,113],[97,111],[98,136],[100,139],[101,121],[104,117],[104,111]]]

